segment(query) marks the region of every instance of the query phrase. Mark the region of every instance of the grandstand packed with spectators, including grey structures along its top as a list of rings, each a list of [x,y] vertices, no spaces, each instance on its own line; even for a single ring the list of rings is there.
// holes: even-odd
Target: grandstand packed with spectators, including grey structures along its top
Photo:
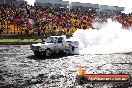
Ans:
[[[10,0],[9,0],[10,1]],[[95,21],[107,18],[119,21],[123,27],[131,26],[131,17],[121,13],[123,7],[99,6],[98,4],[62,0],[36,0],[34,6],[25,1],[0,5],[0,35],[49,36],[66,34],[71,36],[77,29],[90,29]],[[20,2],[20,3],[19,3]],[[0,2],[4,3],[4,2]],[[68,10],[67,7],[70,9]],[[82,10],[79,10],[82,9]],[[104,9],[105,8],[105,9]],[[104,11],[118,14],[108,14]],[[99,12],[100,11],[100,12]]]

